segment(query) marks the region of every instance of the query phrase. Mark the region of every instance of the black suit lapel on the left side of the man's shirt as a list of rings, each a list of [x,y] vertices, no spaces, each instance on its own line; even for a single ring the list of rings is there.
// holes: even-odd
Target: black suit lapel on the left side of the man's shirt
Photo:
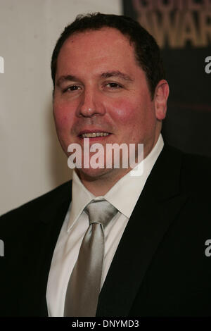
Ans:
[[[28,239],[37,246],[32,246],[30,242],[26,244],[30,249],[24,256],[27,272],[23,280],[24,296],[19,300],[20,315],[21,307],[24,307],[25,316],[48,316],[46,286],[53,251],[71,201],[71,185],[72,182],[65,184],[58,194],[51,196],[51,203],[39,211],[33,237]]]

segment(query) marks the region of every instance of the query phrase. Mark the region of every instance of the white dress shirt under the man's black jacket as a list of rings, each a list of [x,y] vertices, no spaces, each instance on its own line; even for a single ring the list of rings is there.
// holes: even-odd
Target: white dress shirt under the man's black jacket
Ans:
[[[143,174],[132,177],[130,172],[124,175],[103,197],[117,208],[118,213],[108,223],[105,229],[105,257],[103,261],[103,275],[101,287],[113,260],[115,251],[127,225],[129,217],[134,210],[141,191],[151,173],[163,147],[160,135],[152,151],[142,161]],[[137,165],[138,166],[138,165]],[[134,168],[135,170],[135,168]],[[84,208],[92,199],[96,198],[82,184],[73,171],[72,175],[72,201],[65,216],[58,241],[53,252],[49,280],[46,291],[46,300],[50,317],[62,317],[65,304],[65,294],[72,269],[77,261],[82,239],[89,227],[89,218]]]

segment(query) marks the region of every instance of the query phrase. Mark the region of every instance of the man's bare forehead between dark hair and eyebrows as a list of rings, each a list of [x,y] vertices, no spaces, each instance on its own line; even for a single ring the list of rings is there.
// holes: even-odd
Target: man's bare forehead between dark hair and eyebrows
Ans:
[[[68,70],[134,70],[134,46],[119,30],[103,27],[101,30],[77,32],[60,49],[57,74]],[[136,69],[137,70],[137,69]]]

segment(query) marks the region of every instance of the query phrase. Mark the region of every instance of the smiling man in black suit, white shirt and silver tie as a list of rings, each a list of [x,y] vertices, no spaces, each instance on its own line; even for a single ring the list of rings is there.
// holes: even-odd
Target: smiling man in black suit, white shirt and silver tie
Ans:
[[[51,72],[65,154],[70,144],[84,151],[86,137],[105,149],[135,144],[136,156],[143,144],[143,174],[132,177],[114,159],[106,168],[106,156],[103,168],[86,168],[82,154],[72,182],[2,216],[1,316],[68,316],[67,301],[75,308],[69,286],[86,208],[101,199],[116,213],[104,227],[96,313],[84,316],[210,316],[210,161],[163,144],[169,87],[155,40],[124,16],[79,16],[58,39]]]

